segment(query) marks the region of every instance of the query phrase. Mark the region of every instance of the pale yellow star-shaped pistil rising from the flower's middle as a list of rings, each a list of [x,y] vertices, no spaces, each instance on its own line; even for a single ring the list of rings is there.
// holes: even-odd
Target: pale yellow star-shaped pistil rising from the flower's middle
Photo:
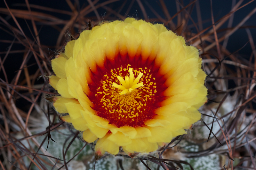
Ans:
[[[140,81],[140,78],[143,76],[143,73],[140,72],[137,78],[135,78],[135,80],[131,67],[129,68],[129,73],[130,76],[125,76],[124,78],[122,78],[121,76],[117,76],[117,79],[120,81],[122,85],[118,85],[115,82],[113,82],[112,84],[112,87],[116,87],[120,90],[123,90],[119,93],[121,95],[132,92],[134,89],[144,86],[142,82],[138,83]]]

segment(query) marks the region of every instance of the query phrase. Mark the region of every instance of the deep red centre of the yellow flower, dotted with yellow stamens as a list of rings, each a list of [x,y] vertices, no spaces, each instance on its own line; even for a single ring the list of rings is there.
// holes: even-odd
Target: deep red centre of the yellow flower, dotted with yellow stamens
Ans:
[[[98,67],[89,84],[92,92],[89,99],[94,104],[96,114],[117,127],[143,127],[145,121],[154,119],[156,108],[164,100],[161,94],[166,89],[166,79],[158,74],[159,68],[154,63],[142,61],[141,57],[131,61],[128,55],[126,58],[119,55],[114,62],[107,59],[105,68]],[[130,82],[129,78],[132,79]],[[132,83],[137,85],[132,86]]]

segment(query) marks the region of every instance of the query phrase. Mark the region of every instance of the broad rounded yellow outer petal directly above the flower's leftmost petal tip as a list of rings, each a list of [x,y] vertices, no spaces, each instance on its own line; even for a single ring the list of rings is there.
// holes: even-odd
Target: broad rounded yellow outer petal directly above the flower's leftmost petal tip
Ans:
[[[67,60],[64,57],[55,58],[52,60],[52,70],[59,78],[66,78],[65,64]]]

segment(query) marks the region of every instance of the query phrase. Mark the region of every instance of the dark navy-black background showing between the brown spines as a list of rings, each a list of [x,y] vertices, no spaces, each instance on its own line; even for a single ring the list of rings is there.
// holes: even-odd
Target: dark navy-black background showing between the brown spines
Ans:
[[[221,17],[223,17],[224,15],[226,15],[230,10],[231,10],[231,4],[232,4],[232,0],[212,0],[212,8],[213,8],[213,15],[214,15],[214,21],[217,21],[218,19],[220,19]],[[21,10],[27,10],[27,7],[25,5],[25,1],[23,0],[6,0],[7,4],[9,5],[9,8],[11,9],[21,9]],[[37,5],[41,5],[41,6],[45,6],[45,7],[50,7],[50,8],[54,8],[54,9],[59,9],[59,10],[66,10],[66,11],[71,11],[71,9],[69,8],[67,2],[65,0],[45,0],[45,1],[39,1],[39,0],[30,0],[28,1],[29,4],[37,4]],[[74,3],[73,0],[71,0],[72,3]],[[105,1],[100,0],[97,4],[102,3]],[[120,9],[120,6],[123,4],[124,0],[121,1],[117,1],[111,4],[108,4],[107,6],[110,7],[112,10],[114,11],[118,11]],[[162,10],[162,7],[160,5],[159,1],[156,0],[147,0],[146,1],[141,1],[149,18],[150,22],[154,22],[153,19],[150,18],[156,18],[155,14],[150,10],[150,8],[147,6],[147,3],[151,5],[151,7],[153,7],[153,9],[162,17],[165,18],[164,12]],[[180,2],[184,3],[184,6],[187,5],[189,2],[188,0],[180,0]],[[236,3],[238,2],[238,0],[236,0]],[[246,4],[247,2],[249,2],[249,0],[244,0],[244,2],[241,4]],[[123,16],[133,16],[133,17],[137,17],[137,18],[144,18],[143,14],[140,10],[140,6],[137,3],[137,1],[135,0],[135,2],[132,5],[132,8],[130,10],[130,12],[128,14],[126,14],[125,12],[127,11],[129,5],[130,5],[131,1],[128,0],[124,6],[124,8],[121,10],[120,14]],[[164,0],[165,6],[168,9],[169,13],[171,16],[173,16],[176,12],[177,12],[177,8],[176,8],[176,1],[175,0]],[[96,5],[97,5],[96,4]],[[212,21],[210,20],[211,17],[211,6],[210,6],[210,0],[199,0],[199,4],[200,4],[200,10],[201,10],[201,17],[202,17],[202,21],[204,22],[203,24],[203,28],[206,28],[207,26],[210,26],[212,24]],[[88,2],[86,0],[80,0],[79,1],[79,7],[82,8],[83,6],[87,6]],[[240,5],[240,6],[241,6]],[[256,1],[252,2],[251,4],[245,6],[244,8],[238,10],[235,12],[234,15],[234,21],[232,26],[236,26],[239,22],[241,22],[244,17],[246,15],[248,15],[254,8],[256,7]],[[4,1],[1,0],[0,3],[0,8],[6,8]],[[181,9],[181,7],[180,7]],[[31,8],[32,11],[38,11],[38,12],[44,12],[50,15],[53,15],[55,17],[61,18],[63,20],[68,20],[70,19],[69,15],[65,15],[65,14],[60,14],[57,12],[50,12],[50,11],[44,11],[44,10],[38,10],[38,9],[34,9]],[[1,10],[0,10],[1,11]],[[104,13],[106,12],[106,9],[99,8],[97,9],[97,11],[99,12],[100,15],[104,15]],[[16,28],[18,28],[12,17],[10,15],[6,15],[3,14],[2,12],[0,13],[0,16],[2,18],[4,18],[10,25],[15,26]],[[88,17],[92,17],[95,16],[94,12],[91,12]],[[115,15],[112,14],[112,16],[114,17]],[[191,17],[194,19],[194,21],[197,23],[197,14],[196,14],[196,6],[193,9],[193,12],[191,13]],[[24,33],[30,38],[33,39],[33,36],[31,35],[29,28],[32,29],[32,24],[30,20],[26,20],[22,19],[22,18],[17,18],[20,26],[22,27]],[[177,17],[175,17],[173,19],[174,23],[177,23]],[[43,25],[42,23],[36,22],[37,24],[37,29],[39,32],[39,37],[40,37],[40,41],[41,44],[43,45],[47,45],[49,47],[49,58],[51,58],[50,55],[52,55],[52,51],[54,50],[56,47],[56,41],[57,38],[59,36],[59,31],[57,31],[55,28],[53,28],[52,26],[46,26]],[[12,35],[10,35],[9,33],[5,32],[3,29],[6,29],[9,32],[12,32],[12,30],[8,30],[8,27],[6,27],[2,22],[0,22],[0,40],[13,40],[14,37]],[[59,25],[60,28],[62,28],[64,25]],[[226,28],[228,26],[228,21],[220,28]],[[255,27],[256,27],[256,14],[253,14],[251,16],[251,18],[249,18],[245,24],[243,26],[249,26],[249,30],[252,33],[252,37],[254,40],[254,44],[256,41],[256,31],[255,31]],[[190,31],[192,31],[193,33],[197,33],[196,29],[193,27],[193,23],[191,21],[188,22],[188,27],[190,27]],[[78,30],[75,30],[78,31]],[[33,32],[33,29],[32,29]],[[34,32],[33,32],[34,33]],[[223,32],[225,33],[225,32]],[[71,32],[72,34],[72,32]],[[245,29],[238,29],[233,35],[231,35],[229,37],[229,41],[228,41],[228,45],[227,45],[227,49],[230,52],[234,52],[237,49],[241,48],[242,46],[244,46],[244,44],[248,41],[248,35],[245,31]],[[220,43],[222,44],[222,42]],[[1,59],[3,60],[4,56],[5,56],[5,51],[8,50],[10,46],[10,43],[4,43],[3,41],[0,42],[0,55],[1,55]],[[14,44],[12,46],[12,50],[24,50],[24,46],[21,44]],[[249,57],[252,53],[252,48],[250,46],[250,44],[248,43],[243,49],[241,49],[239,51],[239,54],[244,57],[245,59],[249,60]],[[19,69],[20,63],[22,62],[22,58],[23,58],[23,53],[15,53],[15,54],[9,54],[7,59],[4,62],[4,67],[5,70],[8,74],[8,81],[12,81],[12,79],[15,76],[15,72],[17,69]],[[32,56],[32,58],[34,58]],[[34,64],[35,60],[32,59],[29,60],[27,65],[30,64]],[[29,72],[33,72],[34,70],[36,70],[38,67],[37,65],[33,65],[29,67]],[[0,77],[3,79],[3,71],[0,72]]]

